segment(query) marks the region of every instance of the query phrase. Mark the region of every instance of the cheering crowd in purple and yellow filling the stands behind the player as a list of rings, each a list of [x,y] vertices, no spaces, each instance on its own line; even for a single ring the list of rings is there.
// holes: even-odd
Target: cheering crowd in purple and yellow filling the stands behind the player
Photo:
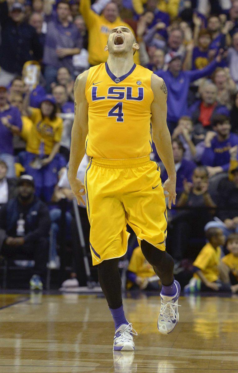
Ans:
[[[195,259],[205,244],[204,227],[222,229],[226,237],[238,232],[238,0],[0,0],[0,255],[14,256],[21,247],[29,256],[33,246],[35,275],[43,284],[49,221],[48,265],[60,264],[61,200],[68,203],[64,219],[74,253],[72,278],[86,283],[67,183],[73,87],[79,73],[106,62],[109,32],[119,25],[139,43],[135,63],[161,76],[168,89],[177,200],[168,216],[167,248],[176,269],[185,257]],[[151,160],[164,182],[167,173],[152,145]],[[82,180],[86,164],[87,156],[79,169]],[[28,176],[22,181],[23,174]],[[83,207],[80,216],[88,242]],[[23,238],[17,233],[22,220]],[[39,244],[44,260],[35,254]],[[129,287],[158,288],[151,268],[144,268],[151,281],[134,276],[131,269],[142,262],[137,248]]]

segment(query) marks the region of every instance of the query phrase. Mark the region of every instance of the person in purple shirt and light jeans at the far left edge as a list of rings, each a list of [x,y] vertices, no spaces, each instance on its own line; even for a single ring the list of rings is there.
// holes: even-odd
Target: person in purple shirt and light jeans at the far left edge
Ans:
[[[0,87],[0,159],[7,163],[7,177],[15,176],[13,135],[22,129],[21,113],[7,103],[7,89]]]

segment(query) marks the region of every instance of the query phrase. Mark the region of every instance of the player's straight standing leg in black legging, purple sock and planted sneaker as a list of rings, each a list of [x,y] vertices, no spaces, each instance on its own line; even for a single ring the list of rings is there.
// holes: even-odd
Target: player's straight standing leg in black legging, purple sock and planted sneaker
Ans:
[[[133,335],[137,333],[124,314],[118,261],[119,259],[115,258],[98,264],[98,279],[115,323],[113,350],[134,351]]]

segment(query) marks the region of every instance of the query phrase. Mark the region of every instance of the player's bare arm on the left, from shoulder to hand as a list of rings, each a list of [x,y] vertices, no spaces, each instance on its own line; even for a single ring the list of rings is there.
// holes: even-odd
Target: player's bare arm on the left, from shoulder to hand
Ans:
[[[89,105],[85,95],[85,87],[89,70],[78,75],[74,84],[74,123],[71,132],[71,147],[69,157],[68,179],[72,192],[78,204],[84,203],[82,195],[85,194],[83,183],[77,179],[78,167],[85,154],[85,140],[89,132],[88,110]],[[83,189],[83,191],[81,191]]]

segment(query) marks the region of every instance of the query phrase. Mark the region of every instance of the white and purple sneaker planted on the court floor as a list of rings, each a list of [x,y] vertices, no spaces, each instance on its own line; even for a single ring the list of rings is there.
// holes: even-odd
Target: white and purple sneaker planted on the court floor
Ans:
[[[115,351],[134,351],[135,343],[133,335],[137,335],[132,324],[122,324],[115,331],[113,350]]]

